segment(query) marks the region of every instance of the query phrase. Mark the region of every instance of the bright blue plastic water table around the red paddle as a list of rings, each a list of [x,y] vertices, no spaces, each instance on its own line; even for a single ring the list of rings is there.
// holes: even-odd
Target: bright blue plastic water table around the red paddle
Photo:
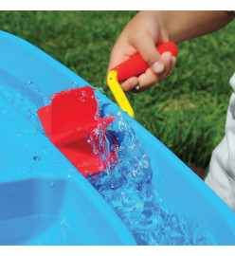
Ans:
[[[27,83],[24,101],[34,102],[35,109],[71,82],[90,85],[39,48],[4,31],[0,56],[0,88],[21,90]],[[102,104],[110,103],[108,111],[120,111],[96,94]],[[114,210],[10,101],[0,95],[0,244],[136,245]],[[164,204],[213,230],[217,245],[235,245],[233,212],[157,138],[136,120],[127,115],[125,119],[151,158],[153,185]]]

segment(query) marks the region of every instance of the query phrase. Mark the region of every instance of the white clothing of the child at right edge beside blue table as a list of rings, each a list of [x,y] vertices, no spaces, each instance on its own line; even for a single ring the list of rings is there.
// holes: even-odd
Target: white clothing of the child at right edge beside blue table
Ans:
[[[235,212],[235,73],[226,116],[226,136],[212,153],[205,182]]]

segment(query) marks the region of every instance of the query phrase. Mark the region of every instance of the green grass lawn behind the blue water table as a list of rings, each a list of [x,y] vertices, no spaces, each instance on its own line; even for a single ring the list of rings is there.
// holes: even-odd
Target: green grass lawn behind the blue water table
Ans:
[[[0,28],[26,39],[104,88],[109,54],[136,11],[0,11]],[[235,21],[178,45],[170,78],[141,94],[128,94],[136,120],[185,163],[206,168],[225,134],[235,71]]]

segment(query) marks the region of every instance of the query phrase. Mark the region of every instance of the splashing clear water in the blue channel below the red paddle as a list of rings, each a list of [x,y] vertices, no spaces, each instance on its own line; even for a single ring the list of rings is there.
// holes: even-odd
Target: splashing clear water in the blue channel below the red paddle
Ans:
[[[133,233],[137,245],[213,245],[197,224],[161,207],[162,199],[152,185],[149,156],[130,125],[122,118],[117,121],[118,162],[88,180]],[[103,157],[111,150],[111,133],[106,132],[109,144]]]

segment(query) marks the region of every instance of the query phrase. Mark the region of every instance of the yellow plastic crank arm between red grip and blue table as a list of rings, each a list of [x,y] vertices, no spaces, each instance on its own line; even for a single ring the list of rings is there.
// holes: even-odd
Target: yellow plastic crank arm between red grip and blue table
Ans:
[[[134,119],[135,114],[134,114],[133,108],[130,102],[127,100],[126,95],[123,92],[117,77],[118,77],[117,71],[111,70],[107,77],[108,86],[111,92],[113,93],[116,101],[118,102],[119,107]]]

